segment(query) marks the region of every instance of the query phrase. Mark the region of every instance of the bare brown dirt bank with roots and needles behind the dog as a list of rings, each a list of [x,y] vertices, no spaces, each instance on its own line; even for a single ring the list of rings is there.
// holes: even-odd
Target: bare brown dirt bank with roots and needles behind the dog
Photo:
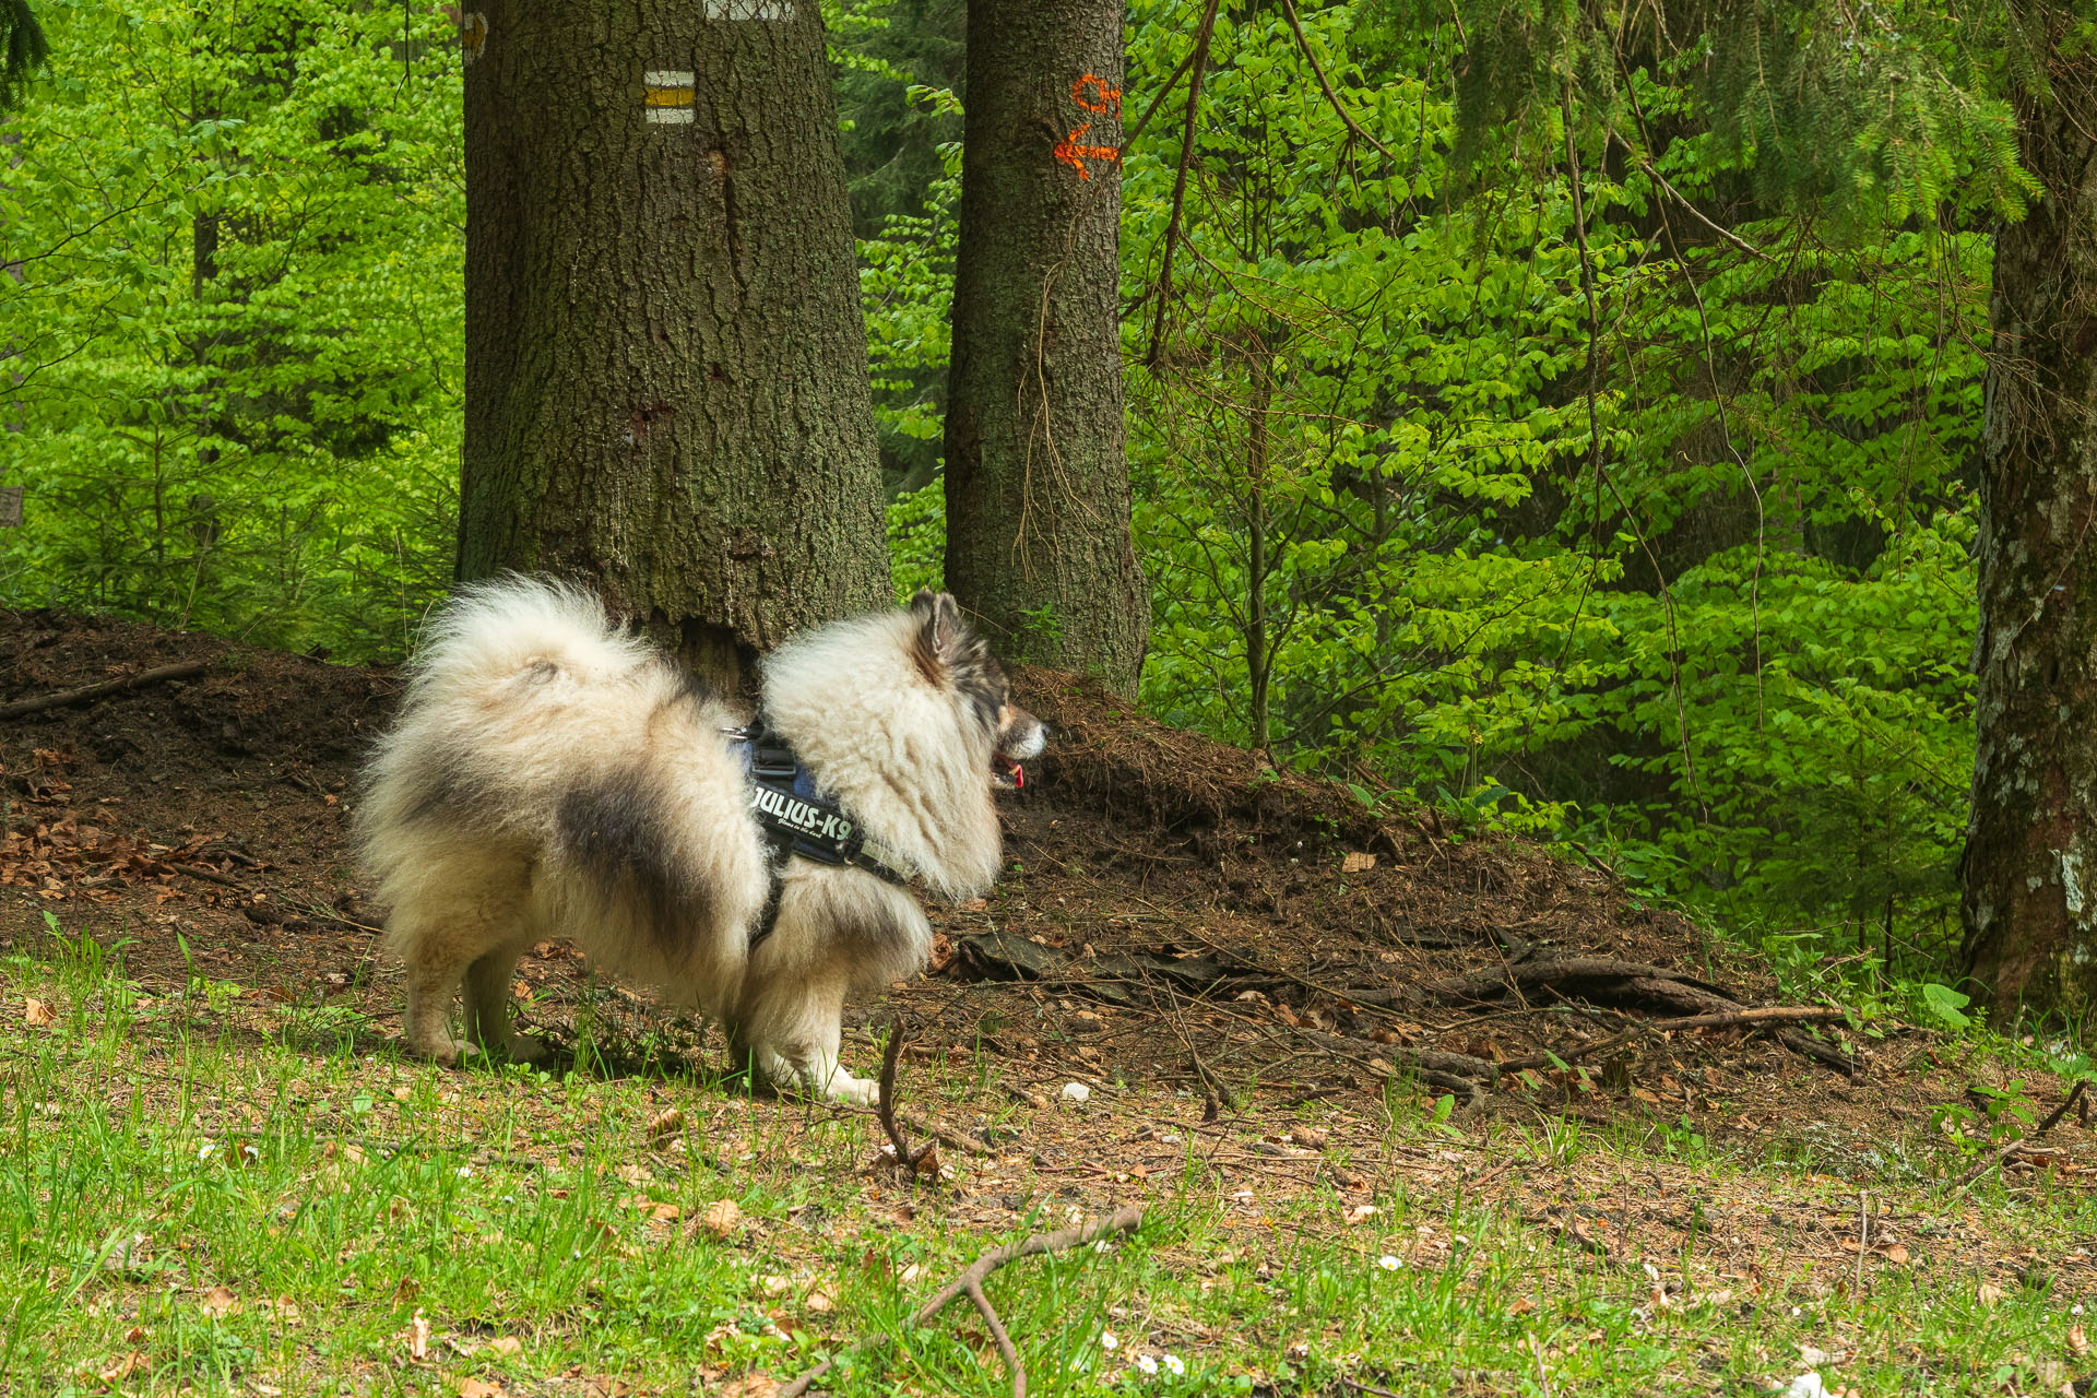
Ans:
[[[398,968],[375,956],[344,836],[396,675],[0,612],[0,704],[180,660],[206,669],[0,719],[0,939],[42,945],[50,914],[61,933],[126,939],[140,977],[352,1006],[380,1046]],[[1069,677],[1023,675],[1021,690],[1061,736],[1004,805],[1011,874],[979,903],[933,910],[933,973],[856,1023],[898,1008],[916,1052],[996,1061],[1025,1098],[1164,1084],[1241,1121],[1447,1092],[1460,1119],[1741,1138],[1841,1174],[1881,1170],[1936,1109],[1977,1115],[2007,1086],[1896,1023],[1644,1031],[1776,987],[1604,872],[1369,813]],[[572,1042],[591,996],[591,1012],[644,1025],[646,1052],[702,1052],[698,1025],[591,991],[566,947],[541,943],[520,966],[522,1014],[556,1040]],[[856,1044],[847,1056],[870,1071],[864,1031]],[[2024,1092],[2040,1109],[2059,1098],[2032,1079]],[[2070,1119],[2055,1142],[2055,1170],[2078,1170],[2087,1126]]]

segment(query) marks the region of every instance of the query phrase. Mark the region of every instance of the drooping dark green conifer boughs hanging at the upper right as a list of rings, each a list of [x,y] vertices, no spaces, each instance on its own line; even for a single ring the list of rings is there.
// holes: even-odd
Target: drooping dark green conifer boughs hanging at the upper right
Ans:
[[[1455,63],[1457,166],[1552,149],[1577,111],[1585,145],[1663,138],[1646,103],[1673,86],[1766,210],[1812,210],[1873,228],[1944,199],[2017,214],[2036,193],[2017,168],[2001,69],[2028,44],[2009,8],[1923,0],[1852,6],[1747,0],[1587,6],[1573,0],[1397,0],[1401,23],[1464,36]],[[1474,172],[1489,180],[1485,170]]]

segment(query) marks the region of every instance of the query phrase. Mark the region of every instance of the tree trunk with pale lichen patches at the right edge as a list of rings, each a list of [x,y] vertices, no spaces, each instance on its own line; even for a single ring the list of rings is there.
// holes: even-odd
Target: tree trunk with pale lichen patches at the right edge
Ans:
[[[2097,1008],[2097,80],[2047,57],[2053,92],[2019,103],[2045,195],[1996,235],[1982,438],[1963,912],[1998,1021]]]

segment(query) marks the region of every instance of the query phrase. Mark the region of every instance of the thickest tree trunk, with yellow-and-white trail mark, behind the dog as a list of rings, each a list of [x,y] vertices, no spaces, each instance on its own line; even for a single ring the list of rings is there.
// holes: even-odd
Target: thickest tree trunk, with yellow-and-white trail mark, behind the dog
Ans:
[[[461,42],[459,576],[585,578],[726,683],[883,602],[814,0],[489,0]]]

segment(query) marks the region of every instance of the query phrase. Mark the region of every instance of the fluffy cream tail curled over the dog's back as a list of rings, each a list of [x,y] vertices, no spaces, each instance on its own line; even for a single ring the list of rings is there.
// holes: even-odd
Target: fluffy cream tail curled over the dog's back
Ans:
[[[512,679],[619,679],[648,660],[646,643],[614,631],[591,593],[510,574],[468,583],[430,618],[407,702],[415,708],[463,694],[491,696]]]

